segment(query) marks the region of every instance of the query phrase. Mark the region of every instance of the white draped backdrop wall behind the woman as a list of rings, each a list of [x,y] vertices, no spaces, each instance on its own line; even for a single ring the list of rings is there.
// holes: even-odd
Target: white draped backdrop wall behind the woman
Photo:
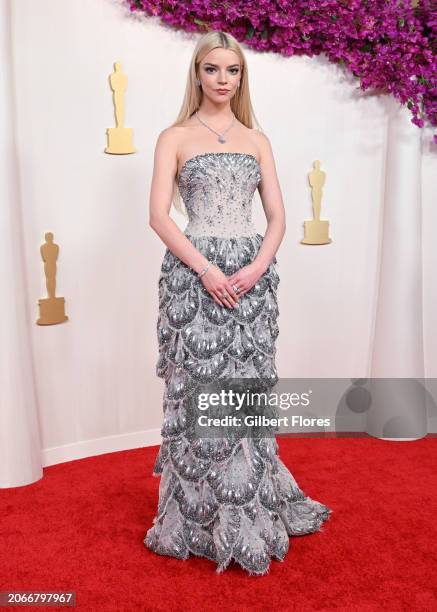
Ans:
[[[197,36],[132,18],[116,0],[1,4],[0,486],[33,482],[44,465],[160,442],[165,246],[148,226],[148,196],[156,138],[179,111]],[[432,130],[324,57],[244,49],[287,211],[279,375],[436,377]],[[134,155],[103,152],[115,61],[128,76]],[[299,242],[315,159],[327,173],[321,216],[333,242],[308,247]],[[264,233],[258,193],[254,220]],[[47,231],[60,246],[57,295],[69,321],[42,327]]]

